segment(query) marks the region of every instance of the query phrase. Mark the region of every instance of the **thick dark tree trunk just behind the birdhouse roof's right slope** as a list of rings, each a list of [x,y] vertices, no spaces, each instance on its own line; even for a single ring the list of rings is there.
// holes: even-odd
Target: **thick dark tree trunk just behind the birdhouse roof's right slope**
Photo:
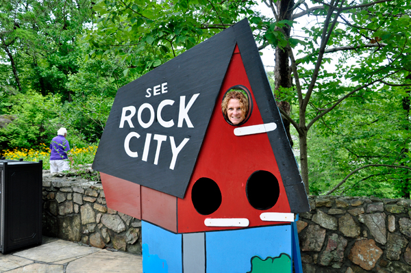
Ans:
[[[292,7],[294,6],[293,0],[281,0],[275,3],[279,20],[291,20]],[[290,27],[284,27],[286,36],[290,36]],[[290,56],[286,50],[275,48],[275,68],[274,68],[274,81],[276,90],[277,107],[281,108],[288,115],[291,113],[291,106],[289,101],[284,101],[284,96],[279,91],[280,87],[290,88],[292,86],[291,69],[289,64]],[[288,140],[291,147],[294,145],[290,134],[290,122],[283,118],[284,127],[286,129]]]

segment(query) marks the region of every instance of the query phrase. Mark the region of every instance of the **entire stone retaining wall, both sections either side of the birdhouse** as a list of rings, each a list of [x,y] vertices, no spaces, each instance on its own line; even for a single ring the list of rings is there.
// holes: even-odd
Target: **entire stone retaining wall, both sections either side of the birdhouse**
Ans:
[[[108,209],[101,183],[45,172],[43,201],[44,235],[141,253],[140,220]],[[297,222],[304,273],[411,272],[411,200],[309,201]]]

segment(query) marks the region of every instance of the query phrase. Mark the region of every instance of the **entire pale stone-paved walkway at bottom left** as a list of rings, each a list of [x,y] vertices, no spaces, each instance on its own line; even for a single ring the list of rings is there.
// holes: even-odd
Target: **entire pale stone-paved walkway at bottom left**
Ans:
[[[0,253],[0,272],[142,273],[142,257],[43,237],[40,246]]]

